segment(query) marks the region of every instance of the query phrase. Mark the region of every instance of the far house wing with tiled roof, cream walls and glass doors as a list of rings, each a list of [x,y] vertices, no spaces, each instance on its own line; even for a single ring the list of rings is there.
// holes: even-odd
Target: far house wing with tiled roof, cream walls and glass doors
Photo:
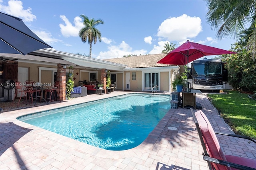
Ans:
[[[140,55],[106,59],[104,61],[124,64],[127,66],[123,70],[123,90],[144,92],[152,91],[153,88],[153,91],[171,92],[172,80],[174,80],[175,75],[180,73],[180,71],[184,72],[184,66],[158,64],[157,62],[166,55],[166,53]]]

